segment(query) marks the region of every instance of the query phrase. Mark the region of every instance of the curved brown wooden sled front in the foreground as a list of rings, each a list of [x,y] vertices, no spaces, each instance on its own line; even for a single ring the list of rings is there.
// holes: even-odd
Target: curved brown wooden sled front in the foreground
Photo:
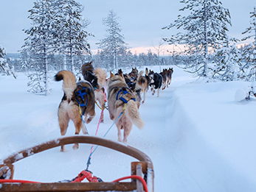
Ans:
[[[7,168],[9,171],[9,179],[0,179],[0,191],[145,191],[141,178],[131,179],[131,182],[49,182],[49,183],[34,183],[34,182],[16,182],[13,180],[14,168],[13,163],[18,160],[22,160],[25,157],[30,157],[32,154],[44,152],[47,149],[52,149],[57,146],[72,144],[72,143],[91,143],[98,146],[104,146],[109,149],[114,149],[117,152],[122,152],[131,157],[136,158],[137,162],[131,163],[131,177],[140,176],[143,183],[146,183],[148,191],[153,192],[153,163],[147,154],[135,149],[131,146],[125,146],[122,143],[109,141],[103,138],[97,138],[92,136],[73,136],[66,138],[59,138],[54,141],[42,143],[38,146],[22,150],[16,154],[7,157],[0,165],[0,170]],[[3,172],[3,171],[2,171]],[[1,173],[1,171],[0,171]],[[0,174],[1,177],[1,174]],[[6,180],[7,182],[4,182]],[[13,180],[13,182],[11,182]],[[145,182],[144,182],[145,181]]]

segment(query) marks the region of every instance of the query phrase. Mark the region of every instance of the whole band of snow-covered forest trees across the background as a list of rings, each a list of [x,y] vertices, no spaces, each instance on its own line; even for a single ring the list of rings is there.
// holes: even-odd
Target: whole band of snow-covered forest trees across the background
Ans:
[[[175,28],[179,32],[161,38],[156,50],[132,54],[122,35],[120,18],[110,10],[103,18],[105,38],[97,43],[97,54],[92,54],[86,31],[89,21],[83,18],[83,6],[75,0],[38,0],[29,10],[30,29],[24,29],[27,38],[20,54],[6,53],[0,47],[0,72],[13,75],[26,72],[30,92],[49,94],[49,71],[69,70],[80,73],[83,63],[93,60],[94,67],[117,71],[144,65],[177,65],[193,76],[209,81],[256,79],[256,7],[250,13],[244,38],[229,37],[227,32],[232,18],[228,8],[218,0],[182,0],[187,15],[162,30]],[[160,38],[160,37],[159,37]],[[238,47],[236,43],[251,40]],[[168,44],[167,57],[160,57],[164,43]],[[156,53],[153,53],[156,51]]]

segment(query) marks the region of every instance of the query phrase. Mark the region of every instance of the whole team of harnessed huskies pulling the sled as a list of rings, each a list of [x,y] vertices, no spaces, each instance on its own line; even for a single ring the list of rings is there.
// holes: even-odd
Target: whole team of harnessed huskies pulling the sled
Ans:
[[[132,68],[129,74],[123,74],[120,69],[117,74],[110,71],[107,81],[105,70],[94,69],[92,62],[83,64],[81,72],[83,80],[78,82],[71,71],[59,71],[55,75],[55,81],[63,80],[64,95],[58,107],[60,134],[66,135],[70,120],[74,122],[76,135],[81,129],[83,134],[88,134],[84,124],[89,124],[94,118],[95,103],[99,102],[98,106],[104,110],[107,102],[109,117],[117,126],[118,141],[127,143],[133,124],[139,129],[144,127],[139,106],[145,102],[148,89],[151,88],[152,94],[157,90],[159,96],[160,89],[164,90],[170,85],[173,68],[164,69],[160,74],[146,68],[145,76],[144,71],[139,72],[136,68]],[[100,122],[104,122],[103,113]],[[78,147],[78,143],[75,143],[73,149]],[[66,152],[65,146],[61,146],[60,151]]]

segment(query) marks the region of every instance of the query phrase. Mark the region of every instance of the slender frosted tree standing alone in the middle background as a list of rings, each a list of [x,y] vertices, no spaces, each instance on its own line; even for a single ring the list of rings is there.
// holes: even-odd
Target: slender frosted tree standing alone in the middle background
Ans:
[[[113,10],[109,11],[108,17],[103,18],[103,25],[108,27],[105,30],[107,32],[106,38],[97,43],[99,49],[103,50],[105,61],[108,62],[106,67],[111,71],[117,71],[121,56],[124,56],[128,49],[124,36],[120,34],[122,29],[120,29],[120,24],[118,23],[119,19]]]

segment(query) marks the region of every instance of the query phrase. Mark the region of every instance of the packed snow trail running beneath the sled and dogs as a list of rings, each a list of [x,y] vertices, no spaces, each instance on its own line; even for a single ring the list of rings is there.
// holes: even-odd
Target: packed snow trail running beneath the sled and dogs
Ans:
[[[152,96],[151,90],[148,90],[145,104],[142,104],[139,108],[142,119],[145,120],[145,127],[142,130],[134,127],[128,137],[128,145],[134,146],[151,157],[155,172],[155,191],[169,191],[170,188],[176,189],[176,191],[190,191],[191,187],[196,191],[201,191],[201,188],[186,168],[173,157],[173,150],[176,149],[176,142],[179,141],[179,138],[176,138],[179,134],[173,135],[173,127],[176,126],[174,124],[176,121],[173,118],[177,118],[173,113],[173,107],[177,109],[176,104],[173,103],[173,92],[190,80],[190,78],[183,79],[183,77],[175,78],[174,76],[170,88],[162,90],[160,97],[157,97],[156,94]],[[97,107],[96,110],[97,115],[91,124],[87,125],[90,135],[94,135],[97,121],[100,118],[100,110]],[[57,111],[57,109],[54,111]],[[184,121],[184,112],[181,109],[178,112],[179,118]],[[113,123],[109,120],[108,111],[104,113],[105,123],[100,124],[99,137],[105,135],[108,127]],[[55,127],[49,132],[49,138],[54,138],[53,135],[58,137],[57,119],[52,119],[52,123],[49,124],[53,124]],[[66,136],[74,135],[74,129],[72,122],[70,122]],[[176,129],[179,132],[179,128]],[[117,141],[115,125],[105,138]],[[72,147],[68,146],[69,152],[66,153],[60,153],[60,149],[51,149],[36,154],[35,157],[30,157],[30,160],[21,160],[15,163],[15,178],[32,179],[40,182],[72,179],[77,173],[86,168],[90,147],[91,145],[82,144],[80,149],[73,151]],[[41,159],[47,162],[47,166],[40,165]],[[93,171],[97,177],[101,177],[105,181],[111,181],[129,175],[130,163],[134,160],[132,157],[99,147],[91,157],[89,170]],[[41,171],[42,167],[45,171]],[[49,170],[47,170],[48,168]],[[24,172],[27,173],[25,174],[26,178],[24,178]],[[109,174],[110,172],[111,174]]]

